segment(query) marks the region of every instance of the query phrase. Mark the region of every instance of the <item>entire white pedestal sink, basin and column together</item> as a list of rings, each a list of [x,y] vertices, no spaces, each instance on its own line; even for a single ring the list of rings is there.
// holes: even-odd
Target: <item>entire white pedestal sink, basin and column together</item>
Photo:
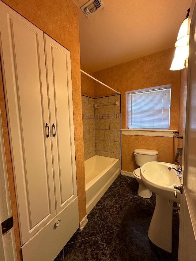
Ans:
[[[181,185],[176,170],[168,170],[178,165],[166,162],[147,162],[140,170],[141,179],[147,188],[156,194],[156,207],[150,222],[148,237],[158,247],[171,253],[172,242],[172,214],[173,209],[169,205],[173,202],[180,203],[180,192],[174,197],[174,184]]]

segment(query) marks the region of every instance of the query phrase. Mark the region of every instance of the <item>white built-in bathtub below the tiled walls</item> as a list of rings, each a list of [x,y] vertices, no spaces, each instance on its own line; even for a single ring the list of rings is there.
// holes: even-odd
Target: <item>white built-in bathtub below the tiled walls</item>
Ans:
[[[119,159],[95,155],[85,160],[87,215],[119,173]]]

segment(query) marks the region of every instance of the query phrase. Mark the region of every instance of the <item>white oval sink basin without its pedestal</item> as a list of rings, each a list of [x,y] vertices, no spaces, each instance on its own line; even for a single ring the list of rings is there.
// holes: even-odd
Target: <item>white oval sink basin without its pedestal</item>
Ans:
[[[180,203],[180,191],[177,190],[177,198],[174,197],[174,184],[180,186],[181,180],[176,170],[168,170],[174,167],[179,170],[179,166],[167,162],[151,161],[145,163],[140,170],[141,179],[147,188],[156,195],[161,195],[166,199]]]

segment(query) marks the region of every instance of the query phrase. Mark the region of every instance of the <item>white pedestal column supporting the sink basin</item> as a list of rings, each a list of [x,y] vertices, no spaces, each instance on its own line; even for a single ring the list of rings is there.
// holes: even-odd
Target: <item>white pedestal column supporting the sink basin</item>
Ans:
[[[171,253],[173,209],[168,199],[156,195],[156,207],[150,222],[148,237],[156,246]]]

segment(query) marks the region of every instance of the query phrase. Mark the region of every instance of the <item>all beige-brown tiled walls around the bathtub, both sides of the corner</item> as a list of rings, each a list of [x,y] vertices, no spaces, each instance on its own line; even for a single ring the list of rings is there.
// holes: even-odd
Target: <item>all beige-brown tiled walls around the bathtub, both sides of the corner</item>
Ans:
[[[82,117],[85,160],[95,154],[121,159],[120,95],[97,99],[82,96]]]

